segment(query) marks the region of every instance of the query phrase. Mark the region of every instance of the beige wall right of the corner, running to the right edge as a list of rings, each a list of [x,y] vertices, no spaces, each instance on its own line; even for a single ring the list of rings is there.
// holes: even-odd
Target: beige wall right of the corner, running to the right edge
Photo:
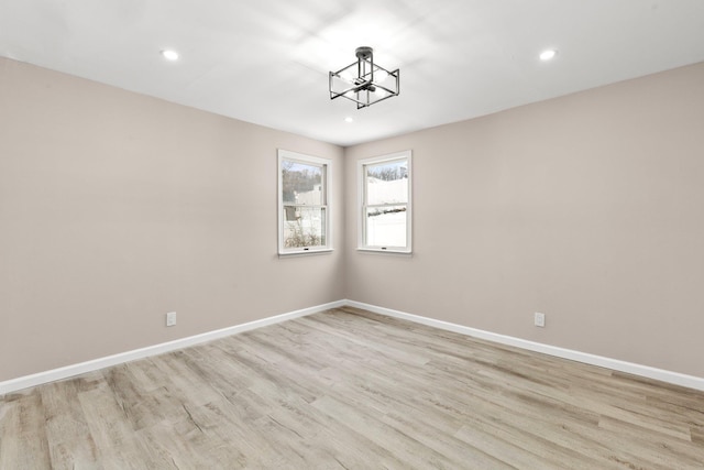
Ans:
[[[415,254],[354,252],[355,162],[407,149]],[[345,160],[348,298],[704,376],[704,64]]]

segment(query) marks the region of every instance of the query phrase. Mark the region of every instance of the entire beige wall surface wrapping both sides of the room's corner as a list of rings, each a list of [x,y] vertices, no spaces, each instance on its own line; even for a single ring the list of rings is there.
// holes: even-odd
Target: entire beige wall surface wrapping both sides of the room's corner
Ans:
[[[0,84],[0,381],[342,298],[704,376],[704,64],[345,151]],[[276,256],[277,147],[334,160],[334,253]],[[355,162],[407,149],[415,253],[358,253]]]

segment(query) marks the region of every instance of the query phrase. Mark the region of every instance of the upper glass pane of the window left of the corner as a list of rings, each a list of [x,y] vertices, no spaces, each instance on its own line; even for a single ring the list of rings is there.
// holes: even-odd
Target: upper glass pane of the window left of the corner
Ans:
[[[322,171],[322,166],[284,160],[282,162],[284,203],[324,205]]]

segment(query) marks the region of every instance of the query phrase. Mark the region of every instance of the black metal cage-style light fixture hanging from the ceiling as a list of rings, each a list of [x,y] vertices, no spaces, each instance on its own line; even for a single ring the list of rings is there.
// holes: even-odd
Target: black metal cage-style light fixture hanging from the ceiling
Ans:
[[[399,69],[389,72],[374,63],[374,50],[356,48],[356,62],[330,72],[330,99],[346,98],[356,102],[356,109],[383,101],[399,91]]]

